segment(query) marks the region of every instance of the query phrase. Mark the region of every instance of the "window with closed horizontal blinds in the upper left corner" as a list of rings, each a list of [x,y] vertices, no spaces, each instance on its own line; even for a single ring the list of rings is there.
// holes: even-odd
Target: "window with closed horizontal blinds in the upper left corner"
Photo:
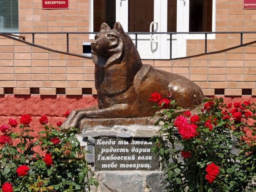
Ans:
[[[19,32],[18,0],[0,0],[0,32]]]

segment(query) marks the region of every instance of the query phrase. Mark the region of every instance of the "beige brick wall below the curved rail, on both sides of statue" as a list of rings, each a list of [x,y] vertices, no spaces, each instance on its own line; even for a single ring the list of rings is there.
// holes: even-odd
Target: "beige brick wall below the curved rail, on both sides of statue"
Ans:
[[[143,63],[196,82],[204,94],[256,96],[256,43],[216,54]],[[0,94],[97,94],[91,59],[55,53],[0,36]],[[30,52],[28,52],[30,51]]]

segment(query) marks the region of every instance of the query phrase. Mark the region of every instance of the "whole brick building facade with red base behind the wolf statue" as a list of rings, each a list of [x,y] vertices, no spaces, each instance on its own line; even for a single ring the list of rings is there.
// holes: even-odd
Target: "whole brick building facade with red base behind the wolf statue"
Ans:
[[[61,3],[49,9],[45,2]],[[94,38],[88,32],[116,21],[143,63],[189,78],[205,96],[253,100],[256,10],[246,6],[243,0],[0,0],[0,117],[46,114],[54,122],[68,109],[96,104],[94,64],[83,57]]]

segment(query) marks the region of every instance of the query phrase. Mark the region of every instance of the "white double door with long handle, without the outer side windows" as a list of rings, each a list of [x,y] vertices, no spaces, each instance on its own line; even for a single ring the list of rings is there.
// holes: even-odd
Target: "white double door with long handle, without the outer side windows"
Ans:
[[[185,23],[188,21],[188,3],[184,1],[118,0],[116,21],[122,24],[125,32],[188,31],[186,29],[188,23]],[[135,35],[130,36],[135,43]],[[137,36],[137,48],[142,59],[170,59],[170,47],[170,35],[138,34]],[[184,35],[172,35],[172,58],[184,56],[185,47]]]

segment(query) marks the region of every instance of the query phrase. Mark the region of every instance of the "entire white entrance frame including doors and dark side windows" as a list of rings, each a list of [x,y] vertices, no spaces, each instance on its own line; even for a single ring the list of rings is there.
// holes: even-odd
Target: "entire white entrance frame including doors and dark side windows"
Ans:
[[[90,0],[90,3],[90,27],[94,32],[99,31],[102,22],[112,28],[116,21],[125,32],[132,33],[215,31],[216,0]],[[135,43],[135,35],[130,36]],[[170,40],[166,34],[138,34],[137,48],[142,59],[184,57],[186,39],[191,38],[204,39],[204,35],[177,34]]]

